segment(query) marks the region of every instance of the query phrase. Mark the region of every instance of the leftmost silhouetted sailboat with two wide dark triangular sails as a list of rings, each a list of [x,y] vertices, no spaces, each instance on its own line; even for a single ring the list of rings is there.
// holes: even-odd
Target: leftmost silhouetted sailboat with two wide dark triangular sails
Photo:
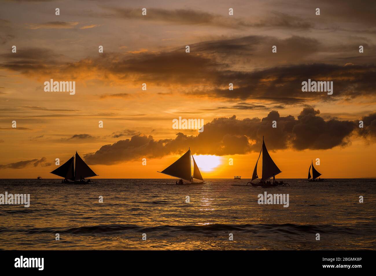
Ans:
[[[82,160],[77,151],[76,156],[73,155],[67,162],[50,173],[64,177],[64,180],[61,181],[63,183],[72,184],[90,183],[90,179],[87,181],[84,181],[84,179],[91,176],[97,176],[85,161]]]

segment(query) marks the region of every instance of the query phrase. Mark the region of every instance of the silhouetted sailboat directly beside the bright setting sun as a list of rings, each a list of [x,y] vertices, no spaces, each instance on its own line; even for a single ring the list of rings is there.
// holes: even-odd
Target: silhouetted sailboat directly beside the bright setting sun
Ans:
[[[192,175],[192,166],[191,166],[191,156],[193,159],[193,175]],[[162,170],[162,172],[166,175],[174,176],[180,178],[182,180],[188,181],[188,183],[184,183],[182,180],[179,181],[177,184],[202,184],[204,179],[201,176],[199,167],[196,164],[196,161],[193,158],[191,150],[182,155],[178,160],[168,166],[166,169]],[[193,179],[202,180],[201,182],[194,182]]]

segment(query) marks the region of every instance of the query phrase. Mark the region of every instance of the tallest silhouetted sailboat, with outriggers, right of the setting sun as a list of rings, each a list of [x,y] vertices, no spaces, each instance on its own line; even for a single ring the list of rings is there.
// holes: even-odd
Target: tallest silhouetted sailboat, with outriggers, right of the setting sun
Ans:
[[[257,165],[258,161],[260,159],[262,152],[262,175],[259,183],[253,183],[252,181],[259,178],[257,175]],[[251,184],[252,186],[277,186],[281,184],[276,184],[276,183],[271,183],[271,184],[266,184],[266,181],[273,176],[276,176],[277,174],[281,173],[282,171],[277,167],[277,165],[274,163],[273,159],[271,159],[268,150],[266,149],[265,142],[264,142],[264,136],[262,136],[262,147],[260,150],[259,157],[257,158],[256,161],[256,166],[255,169],[253,170],[252,174],[252,180],[251,182],[248,182],[247,185],[235,185],[233,184],[232,186],[248,186],[248,184]],[[286,186],[286,183],[282,182],[282,185]]]

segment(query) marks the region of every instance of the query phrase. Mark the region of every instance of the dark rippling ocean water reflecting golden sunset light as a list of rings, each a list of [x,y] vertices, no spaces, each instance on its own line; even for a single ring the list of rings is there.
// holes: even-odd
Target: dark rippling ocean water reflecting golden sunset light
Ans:
[[[376,179],[283,180],[0,179],[0,194],[30,194],[29,208],[0,205],[0,249],[376,249]],[[258,204],[265,191],[288,194],[289,207]]]

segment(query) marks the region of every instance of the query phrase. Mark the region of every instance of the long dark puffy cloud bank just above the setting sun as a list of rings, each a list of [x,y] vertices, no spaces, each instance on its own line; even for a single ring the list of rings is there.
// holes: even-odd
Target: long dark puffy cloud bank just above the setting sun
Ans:
[[[265,137],[269,150],[293,148],[331,149],[349,144],[356,124],[352,121],[329,119],[325,121],[319,110],[306,107],[297,116],[282,117],[271,111],[262,119],[215,118],[205,124],[197,136],[177,133],[175,139],[155,140],[152,136],[138,134],[130,139],[104,145],[98,151],[85,155],[88,164],[115,164],[139,158],[161,158],[181,154],[191,148],[196,154],[246,154],[258,152]],[[272,128],[273,121],[277,128]]]

